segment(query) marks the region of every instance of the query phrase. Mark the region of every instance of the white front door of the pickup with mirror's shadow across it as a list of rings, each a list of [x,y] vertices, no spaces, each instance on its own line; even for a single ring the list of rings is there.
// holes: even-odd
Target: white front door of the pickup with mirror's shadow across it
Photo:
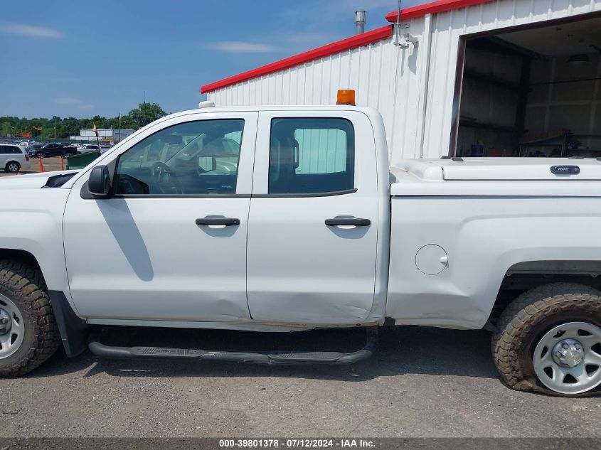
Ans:
[[[85,173],[64,217],[78,313],[94,319],[250,320],[246,235],[257,112],[174,117],[98,164],[112,193]],[[106,323],[106,321],[105,321]]]

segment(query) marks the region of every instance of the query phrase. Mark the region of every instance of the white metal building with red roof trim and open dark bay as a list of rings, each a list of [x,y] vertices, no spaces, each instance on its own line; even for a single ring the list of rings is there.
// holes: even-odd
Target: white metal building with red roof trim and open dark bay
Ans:
[[[400,33],[389,24],[201,92],[218,106],[327,105],[356,90],[383,114],[392,165],[601,156],[601,0],[441,0],[400,18]]]

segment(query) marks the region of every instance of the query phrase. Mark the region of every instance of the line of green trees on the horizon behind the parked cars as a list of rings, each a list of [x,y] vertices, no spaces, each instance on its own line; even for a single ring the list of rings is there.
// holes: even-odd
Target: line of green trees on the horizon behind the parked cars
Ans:
[[[53,116],[26,119],[25,117],[0,117],[0,136],[16,136],[19,133],[31,133],[33,139],[64,139],[78,136],[80,129],[138,129],[167,113],[156,103],[140,103],[139,107],[119,117],[94,116],[91,119],[61,118]]]

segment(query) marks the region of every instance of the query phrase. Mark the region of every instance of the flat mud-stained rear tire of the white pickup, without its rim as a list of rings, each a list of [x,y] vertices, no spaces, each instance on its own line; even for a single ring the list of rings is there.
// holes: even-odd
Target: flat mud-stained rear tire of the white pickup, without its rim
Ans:
[[[560,394],[544,386],[533,367],[533,350],[544,333],[560,323],[583,321],[601,327],[601,292],[576,283],[538,286],[518,296],[499,318],[491,350],[504,382],[515,390],[545,392],[561,397],[590,395]]]

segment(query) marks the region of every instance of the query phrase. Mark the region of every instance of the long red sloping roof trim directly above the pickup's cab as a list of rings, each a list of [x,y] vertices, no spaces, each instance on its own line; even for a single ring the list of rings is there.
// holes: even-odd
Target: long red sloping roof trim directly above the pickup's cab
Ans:
[[[277,72],[278,70],[284,70],[294,67],[295,65],[324,58],[324,56],[333,55],[334,53],[339,53],[344,50],[351,50],[352,48],[361,47],[361,45],[368,45],[373,42],[389,38],[392,36],[392,34],[393,30],[390,25],[383,26],[382,28],[376,28],[375,30],[361,33],[356,36],[352,36],[351,38],[343,39],[342,41],[324,45],[323,47],[314,48],[313,50],[276,61],[275,63],[263,65],[260,68],[248,70],[247,72],[243,72],[238,75],[233,75],[233,77],[228,77],[224,78],[223,80],[209,83],[208,85],[201,87],[201,92],[205,94],[206,92],[235,85],[238,82],[250,80],[251,78],[260,77],[262,75],[267,75],[268,73]]]

